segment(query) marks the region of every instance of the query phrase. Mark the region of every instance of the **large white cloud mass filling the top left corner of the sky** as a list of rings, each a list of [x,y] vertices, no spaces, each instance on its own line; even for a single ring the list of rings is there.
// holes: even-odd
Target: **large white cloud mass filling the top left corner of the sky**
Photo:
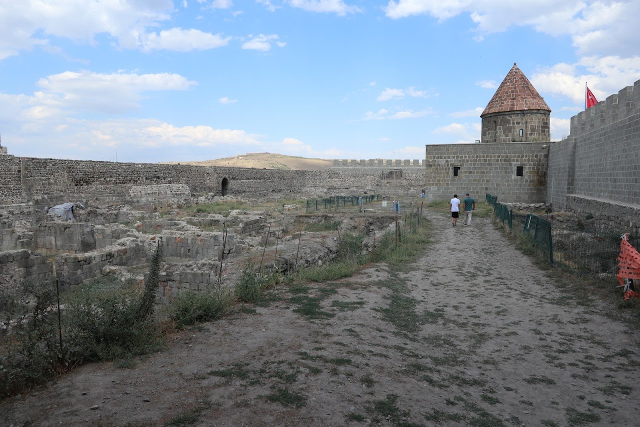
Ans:
[[[172,0],[54,3],[20,0],[0,7],[0,60],[33,47],[56,49],[51,45],[56,37],[93,45],[97,43],[95,36],[108,35],[124,49],[189,51],[226,45],[227,39],[220,35],[198,29],[148,32],[171,19],[175,12]]]

